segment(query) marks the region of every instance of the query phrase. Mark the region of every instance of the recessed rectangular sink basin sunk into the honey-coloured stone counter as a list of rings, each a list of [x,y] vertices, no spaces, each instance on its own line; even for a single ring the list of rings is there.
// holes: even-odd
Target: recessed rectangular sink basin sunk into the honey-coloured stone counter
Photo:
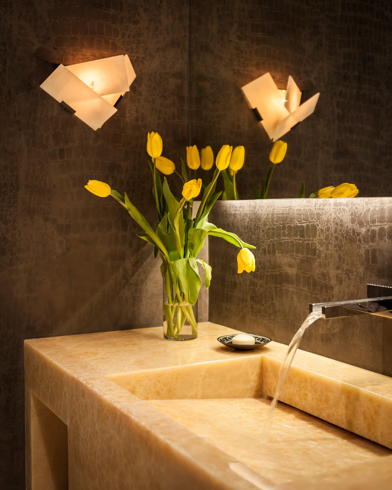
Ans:
[[[391,404],[383,411],[379,397],[367,390],[297,367],[287,380],[282,399],[339,427],[279,403],[266,441],[263,425],[278,368],[267,352],[262,357],[109,378],[223,451],[233,471],[261,488],[265,478],[272,484],[287,484],[298,478],[344,472],[392,455],[389,448],[341,429],[346,427],[391,447]],[[302,353],[304,356],[312,357]]]

